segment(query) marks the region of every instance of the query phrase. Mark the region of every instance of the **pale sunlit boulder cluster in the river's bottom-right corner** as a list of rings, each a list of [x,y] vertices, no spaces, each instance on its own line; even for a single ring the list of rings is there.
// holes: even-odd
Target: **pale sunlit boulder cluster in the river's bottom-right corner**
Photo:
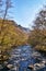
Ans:
[[[39,63],[30,64],[27,68],[31,70],[39,70],[39,69],[45,68],[45,66],[46,66],[45,61],[42,61]]]

